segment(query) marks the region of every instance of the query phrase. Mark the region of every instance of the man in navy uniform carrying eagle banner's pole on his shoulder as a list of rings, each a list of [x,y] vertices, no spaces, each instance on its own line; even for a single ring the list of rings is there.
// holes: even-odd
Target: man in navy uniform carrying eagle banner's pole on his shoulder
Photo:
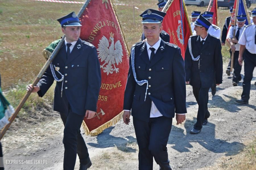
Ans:
[[[96,48],[80,36],[80,24],[75,12],[60,19],[61,30],[65,34],[58,54],[44,73],[39,83],[28,90],[43,97],[47,90],[57,81],[54,94],[53,110],[60,112],[64,123],[63,144],[64,170],[74,170],[76,154],[80,160],[80,169],[88,169],[92,163],[80,127],[84,117],[93,118],[100,90],[100,65]],[[60,40],[49,45],[44,53],[51,54]]]

